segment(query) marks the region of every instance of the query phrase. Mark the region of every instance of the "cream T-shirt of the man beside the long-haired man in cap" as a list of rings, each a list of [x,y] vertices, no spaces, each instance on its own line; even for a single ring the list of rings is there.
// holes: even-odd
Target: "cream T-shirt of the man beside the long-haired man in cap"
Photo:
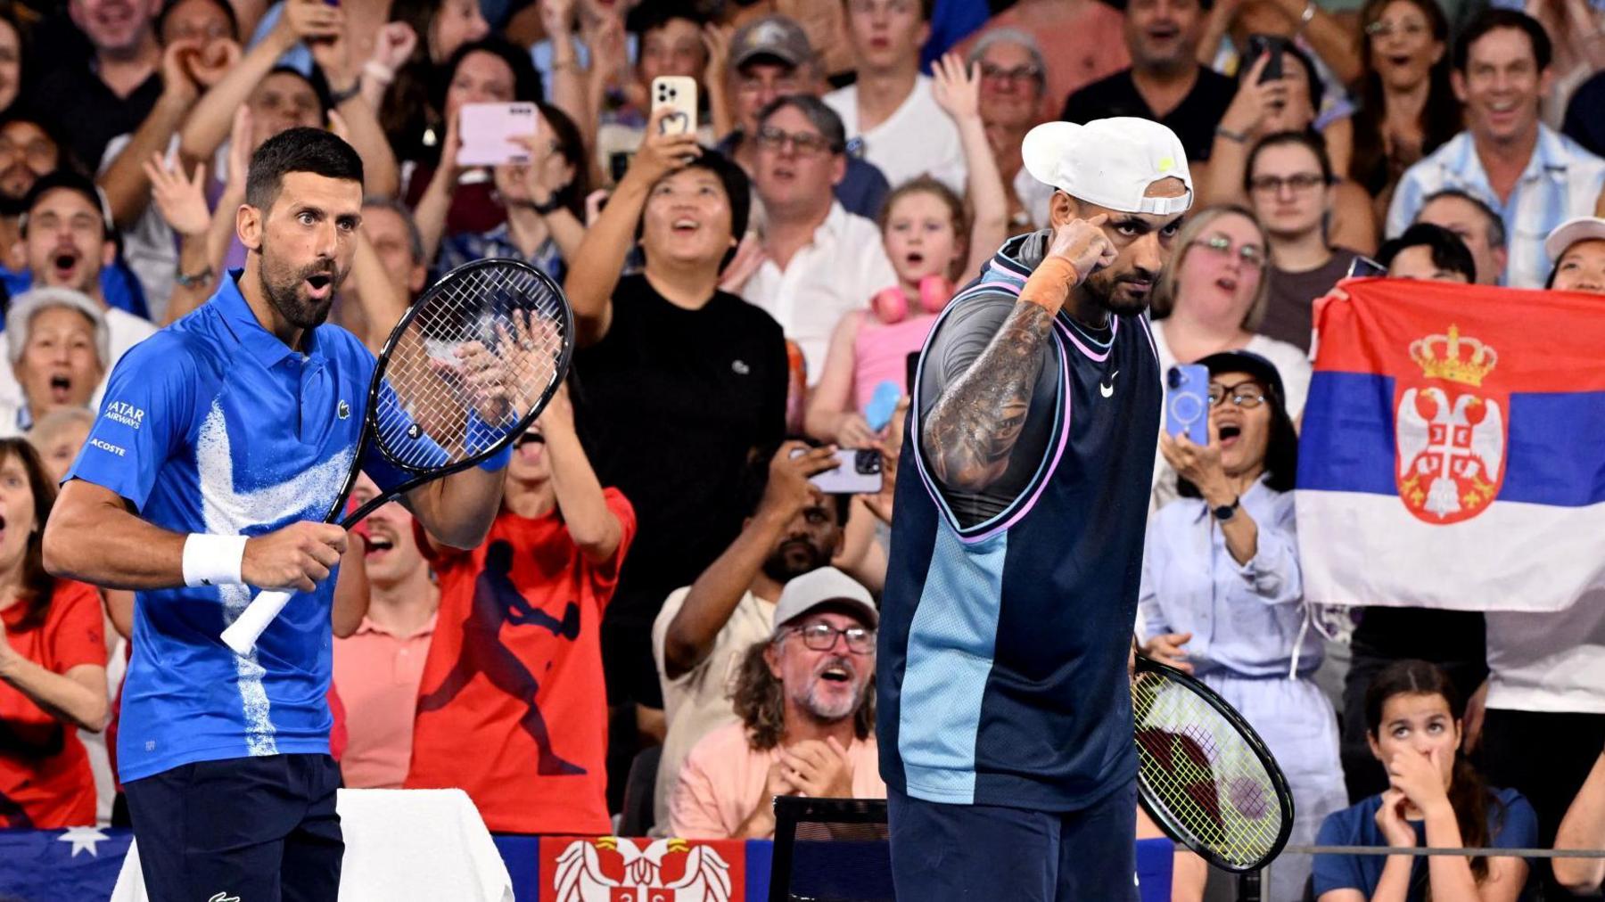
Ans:
[[[658,664],[663,716],[669,724],[669,732],[663,738],[663,758],[658,761],[658,785],[652,807],[653,822],[664,830],[669,825],[669,799],[674,796],[685,758],[703,737],[737,722],[735,709],[730,706],[730,687],[735,685],[742,669],[742,658],[753,644],[769,639],[775,631],[775,602],[746,592],[714,637],[708,656],[679,677],[668,679],[663,676],[664,637],[690,591],[690,586],[685,586],[669,594],[663,610],[658,611],[658,620],[652,623],[652,660]]]

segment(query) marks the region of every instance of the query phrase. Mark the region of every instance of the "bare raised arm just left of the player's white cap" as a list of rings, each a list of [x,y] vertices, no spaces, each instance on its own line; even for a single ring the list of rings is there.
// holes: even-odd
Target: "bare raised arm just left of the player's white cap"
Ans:
[[[968,236],[969,255],[963,271],[976,273],[1008,236],[1008,193],[1003,189],[1003,177],[998,173],[997,157],[981,122],[981,67],[976,64],[966,72],[963,58],[949,53],[936,61],[933,75],[936,80],[931,83],[931,91],[936,95],[936,103],[958,127],[958,140],[965,149],[973,221]]]

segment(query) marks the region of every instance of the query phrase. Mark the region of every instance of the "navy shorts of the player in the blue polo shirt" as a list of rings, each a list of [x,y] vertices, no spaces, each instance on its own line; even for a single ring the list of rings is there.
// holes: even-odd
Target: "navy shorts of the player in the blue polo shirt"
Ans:
[[[197,761],[124,785],[151,902],[334,902],[340,769],[327,754]]]

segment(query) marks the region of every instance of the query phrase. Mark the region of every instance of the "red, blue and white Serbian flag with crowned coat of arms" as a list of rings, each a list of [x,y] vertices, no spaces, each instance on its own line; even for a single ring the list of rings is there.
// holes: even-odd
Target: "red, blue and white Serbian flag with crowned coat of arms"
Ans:
[[[1605,297],[1348,279],[1314,313],[1314,603],[1554,611],[1605,586]]]

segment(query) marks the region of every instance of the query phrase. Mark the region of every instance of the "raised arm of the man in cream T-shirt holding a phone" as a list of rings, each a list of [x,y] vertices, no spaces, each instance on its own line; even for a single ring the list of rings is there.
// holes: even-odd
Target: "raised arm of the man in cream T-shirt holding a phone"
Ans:
[[[798,451],[801,454],[793,457]],[[833,465],[833,448],[809,448],[801,441],[786,441],[769,459],[769,481],[758,510],[730,547],[692,583],[663,634],[664,677],[679,679],[708,660],[719,631],[730,621],[780,536],[804,509],[827,504],[823,493],[807,480]]]

